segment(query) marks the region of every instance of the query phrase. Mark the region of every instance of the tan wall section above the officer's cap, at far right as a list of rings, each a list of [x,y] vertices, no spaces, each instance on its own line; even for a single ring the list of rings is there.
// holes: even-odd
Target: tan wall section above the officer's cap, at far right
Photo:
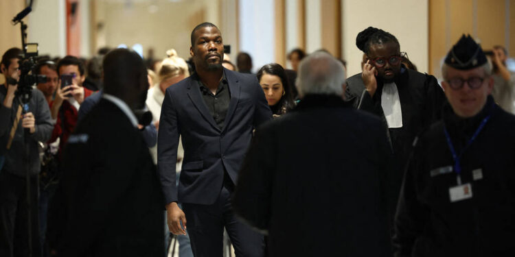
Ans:
[[[439,79],[442,60],[462,34],[470,34],[485,50],[509,38],[506,47],[515,51],[515,0],[431,0],[429,10],[430,72]]]

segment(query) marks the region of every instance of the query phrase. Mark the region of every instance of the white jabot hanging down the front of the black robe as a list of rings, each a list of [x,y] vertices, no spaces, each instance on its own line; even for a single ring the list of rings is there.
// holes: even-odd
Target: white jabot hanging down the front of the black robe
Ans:
[[[402,110],[395,82],[382,86],[381,107],[389,128],[402,127]]]

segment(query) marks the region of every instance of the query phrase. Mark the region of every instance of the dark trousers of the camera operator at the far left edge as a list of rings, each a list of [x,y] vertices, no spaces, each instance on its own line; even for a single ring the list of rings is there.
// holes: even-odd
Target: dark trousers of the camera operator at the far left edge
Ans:
[[[38,223],[38,177],[30,179],[30,221],[26,180],[7,171],[0,173],[0,256],[29,256],[28,224],[31,224],[32,256],[41,256]]]

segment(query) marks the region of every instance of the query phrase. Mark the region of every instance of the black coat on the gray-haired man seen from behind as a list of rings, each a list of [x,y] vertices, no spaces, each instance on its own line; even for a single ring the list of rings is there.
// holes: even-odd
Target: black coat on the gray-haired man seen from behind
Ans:
[[[389,256],[391,151],[380,119],[308,95],[256,130],[233,198],[270,256]]]

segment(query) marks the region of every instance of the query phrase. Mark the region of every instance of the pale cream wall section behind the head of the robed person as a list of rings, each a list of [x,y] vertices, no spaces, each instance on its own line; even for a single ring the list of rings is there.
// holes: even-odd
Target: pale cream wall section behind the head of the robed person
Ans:
[[[356,47],[356,36],[369,26],[396,36],[400,51],[408,53],[419,71],[428,71],[428,0],[342,0],[342,12],[347,77],[361,72],[363,52]]]

